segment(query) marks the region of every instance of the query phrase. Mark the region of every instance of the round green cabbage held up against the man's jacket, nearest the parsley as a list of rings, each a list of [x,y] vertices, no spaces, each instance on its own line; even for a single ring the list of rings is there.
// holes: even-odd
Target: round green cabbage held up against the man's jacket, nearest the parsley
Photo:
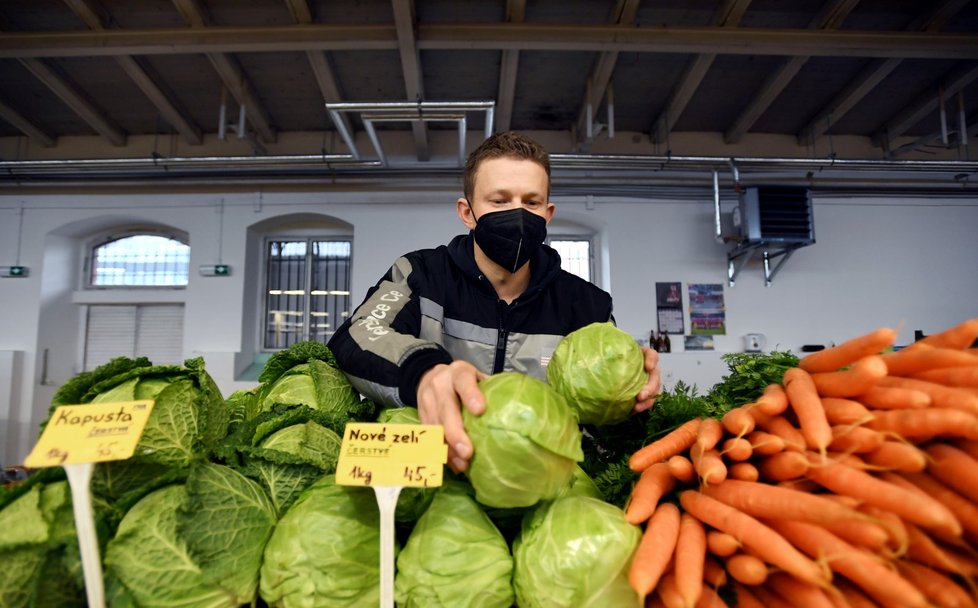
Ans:
[[[610,322],[567,334],[547,366],[547,382],[567,399],[581,424],[623,422],[647,381],[641,347]]]

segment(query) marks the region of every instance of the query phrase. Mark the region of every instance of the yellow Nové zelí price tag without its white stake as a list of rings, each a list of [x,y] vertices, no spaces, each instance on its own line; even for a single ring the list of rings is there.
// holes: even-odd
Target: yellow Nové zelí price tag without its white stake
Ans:
[[[336,465],[345,486],[436,487],[448,462],[441,425],[349,422]]]

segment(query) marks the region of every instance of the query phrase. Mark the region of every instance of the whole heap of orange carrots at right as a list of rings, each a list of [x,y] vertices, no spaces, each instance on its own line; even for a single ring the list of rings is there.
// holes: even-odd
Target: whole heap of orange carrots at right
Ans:
[[[978,318],[803,357],[636,451],[646,606],[978,606]]]

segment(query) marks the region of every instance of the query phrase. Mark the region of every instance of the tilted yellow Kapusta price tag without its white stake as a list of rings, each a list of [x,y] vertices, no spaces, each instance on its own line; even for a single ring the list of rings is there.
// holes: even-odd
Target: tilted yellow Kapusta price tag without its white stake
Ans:
[[[152,411],[152,400],[62,405],[24,464],[41,468],[130,458]]]

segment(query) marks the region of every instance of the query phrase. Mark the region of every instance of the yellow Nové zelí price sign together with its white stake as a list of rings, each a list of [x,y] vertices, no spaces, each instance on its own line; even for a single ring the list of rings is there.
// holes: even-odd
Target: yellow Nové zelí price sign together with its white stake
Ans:
[[[394,511],[404,487],[442,483],[448,461],[440,425],[350,422],[336,463],[336,483],[370,486],[380,508],[380,608],[394,606]]]

